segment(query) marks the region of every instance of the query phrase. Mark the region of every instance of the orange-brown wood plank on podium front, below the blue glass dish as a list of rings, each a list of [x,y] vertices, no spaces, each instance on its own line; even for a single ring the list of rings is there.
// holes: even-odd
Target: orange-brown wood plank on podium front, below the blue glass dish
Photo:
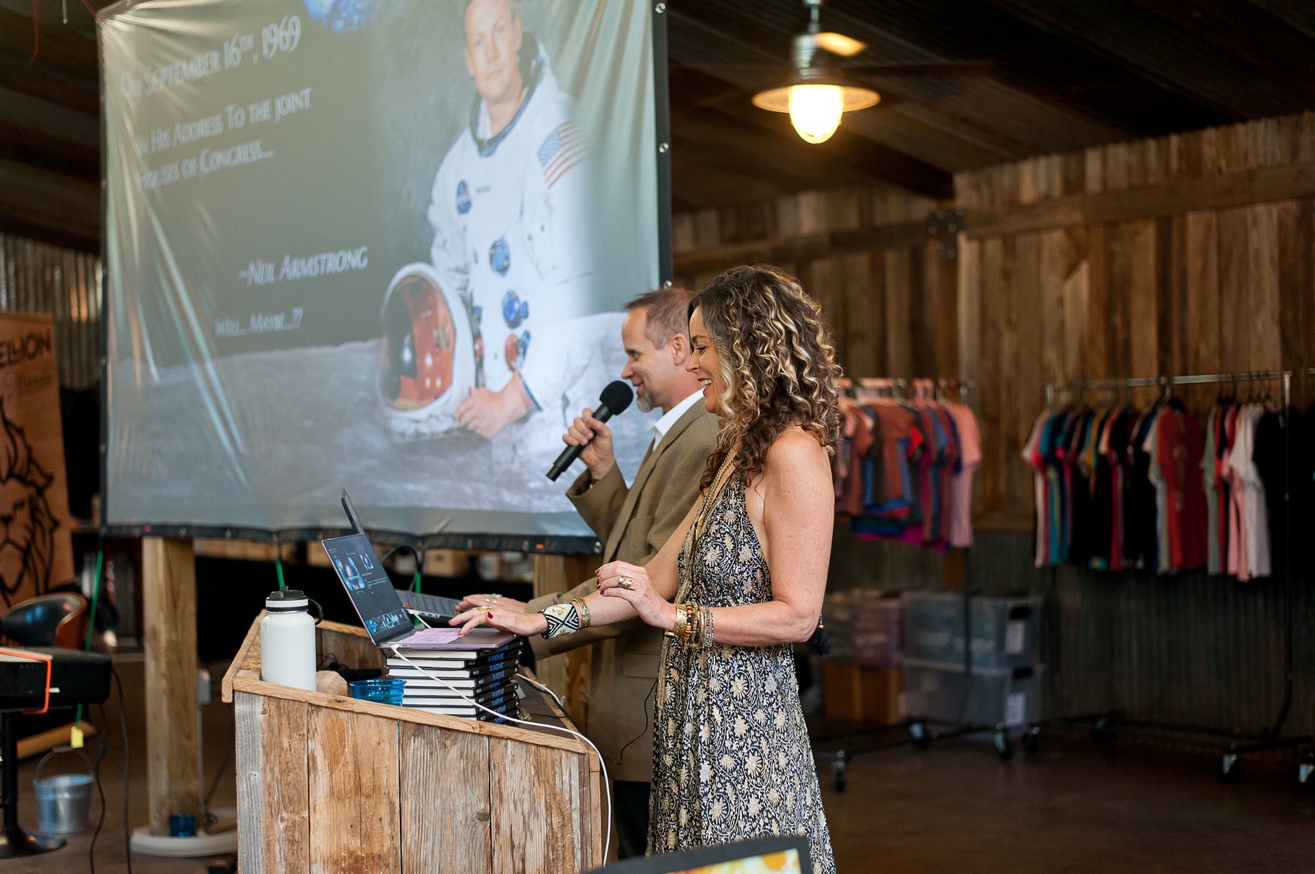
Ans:
[[[309,715],[310,871],[400,871],[397,720]]]

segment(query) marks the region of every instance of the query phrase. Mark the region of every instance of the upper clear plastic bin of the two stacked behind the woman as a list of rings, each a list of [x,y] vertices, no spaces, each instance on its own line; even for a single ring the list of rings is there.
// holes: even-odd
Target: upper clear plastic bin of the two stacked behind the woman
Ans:
[[[963,665],[963,595],[906,591],[901,601],[905,657]],[[1040,661],[1040,598],[974,597],[969,605],[973,668],[1022,668]]]

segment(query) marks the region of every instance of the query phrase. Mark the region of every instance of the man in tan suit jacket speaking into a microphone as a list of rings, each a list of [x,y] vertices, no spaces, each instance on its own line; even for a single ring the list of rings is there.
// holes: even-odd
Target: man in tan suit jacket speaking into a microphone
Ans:
[[[636,405],[664,415],[654,425],[648,448],[635,481],[627,488],[617,468],[611,431],[584,413],[562,438],[585,446],[580,460],[588,469],[571,484],[567,497],[604,541],[602,560],[646,564],[661,548],[698,498],[698,481],[717,442],[717,417],[704,410],[701,386],[685,371],[689,357],[689,301],[680,288],[648,292],[626,305],[621,327],[626,368],[621,377],[635,386]],[[523,607],[544,607],[597,591],[586,580],[571,591],[535,598]],[[496,595],[467,595],[462,609],[497,601],[515,609],[518,602]],[[648,782],[652,778],[652,695],[661,632],[640,619],[531,644],[539,657],[576,647],[598,644],[593,653],[589,691],[589,739],[598,745],[613,778],[613,808],[621,856],[643,856],[648,837]]]

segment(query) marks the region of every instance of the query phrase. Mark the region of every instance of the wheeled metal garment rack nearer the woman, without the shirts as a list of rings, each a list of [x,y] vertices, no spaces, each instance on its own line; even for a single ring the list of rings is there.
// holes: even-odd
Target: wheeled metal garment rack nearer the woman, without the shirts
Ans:
[[[861,379],[855,386],[855,400],[902,398],[910,401],[940,400],[948,392],[957,392],[959,401],[967,403],[969,392],[976,389],[976,382],[957,380],[902,380],[902,379]],[[963,585],[963,614],[964,614],[964,685],[955,708],[955,718],[951,720],[930,719],[918,714],[911,714],[894,723],[881,723],[864,725],[861,729],[814,737],[814,743],[832,745],[835,741],[856,739],[860,735],[873,736],[886,732],[905,732],[898,740],[880,743],[864,743],[859,747],[842,744],[835,752],[814,749],[815,758],[828,762],[831,766],[831,789],[844,791],[847,783],[848,761],[859,753],[872,753],[884,749],[893,749],[913,744],[917,749],[926,749],[934,740],[947,740],[963,737],[964,735],[993,733],[995,752],[1003,761],[1014,757],[1014,744],[1009,737],[1009,729],[1003,724],[980,725],[964,722],[964,711],[968,707],[968,695],[972,693],[973,682],[973,653],[972,653],[972,548],[965,547],[964,555],[964,585]]]

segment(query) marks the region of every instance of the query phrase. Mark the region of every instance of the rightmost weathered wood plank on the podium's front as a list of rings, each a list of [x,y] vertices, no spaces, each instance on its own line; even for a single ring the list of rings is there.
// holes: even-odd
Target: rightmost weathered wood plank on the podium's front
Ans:
[[[594,863],[594,836],[575,812],[592,779],[579,762],[551,749],[489,740],[493,870],[575,871]]]

